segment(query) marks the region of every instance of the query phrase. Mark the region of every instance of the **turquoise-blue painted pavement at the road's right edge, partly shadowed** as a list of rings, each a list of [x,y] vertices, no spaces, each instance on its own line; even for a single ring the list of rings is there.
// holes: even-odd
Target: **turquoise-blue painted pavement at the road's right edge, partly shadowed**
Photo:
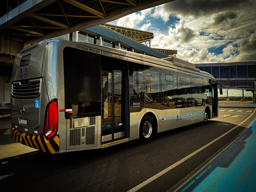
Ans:
[[[256,120],[178,192],[256,192]]]

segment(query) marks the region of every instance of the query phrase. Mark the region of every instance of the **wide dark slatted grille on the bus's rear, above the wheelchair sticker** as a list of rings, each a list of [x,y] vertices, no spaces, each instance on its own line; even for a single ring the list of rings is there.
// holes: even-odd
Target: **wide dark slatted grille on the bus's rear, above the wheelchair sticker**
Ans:
[[[41,92],[42,79],[32,79],[12,83],[12,97],[29,99],[36,98]]]

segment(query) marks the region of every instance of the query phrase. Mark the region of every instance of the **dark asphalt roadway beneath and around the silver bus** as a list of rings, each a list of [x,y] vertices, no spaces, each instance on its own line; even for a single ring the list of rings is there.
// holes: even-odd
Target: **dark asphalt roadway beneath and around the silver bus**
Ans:
[[[147,144],[57,155],[16,143],[0,129],[0,191],[176,191],[256,117],[248,103],[219,106],[219,117],[207,124],[163,132]]]

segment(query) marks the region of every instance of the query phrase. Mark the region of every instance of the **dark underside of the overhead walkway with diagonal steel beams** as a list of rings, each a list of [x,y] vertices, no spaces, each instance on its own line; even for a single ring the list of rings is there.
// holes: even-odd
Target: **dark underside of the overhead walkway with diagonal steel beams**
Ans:
[[[56,0],[0,30],[28,44],[116,20],[173,0]]]

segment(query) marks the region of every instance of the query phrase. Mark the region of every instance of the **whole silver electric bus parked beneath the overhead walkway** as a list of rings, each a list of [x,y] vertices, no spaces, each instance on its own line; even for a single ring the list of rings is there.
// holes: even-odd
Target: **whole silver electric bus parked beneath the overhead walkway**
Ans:
[[[106,148],[218,117],[217,82],[192,63],[64,40],[16,56],[12,140],[46,153]]]

